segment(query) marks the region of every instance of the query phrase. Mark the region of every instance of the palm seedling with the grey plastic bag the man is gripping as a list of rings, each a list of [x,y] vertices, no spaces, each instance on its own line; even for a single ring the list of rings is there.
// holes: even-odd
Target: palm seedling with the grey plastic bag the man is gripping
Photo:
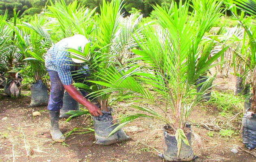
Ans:
[[[67,50],[73,51],[74,53],[80,55],[82,57],[80,57],[80,59],[87,63],[90,70],[90,76],[86,78],[86,80],[90,82],[89,86],[88,84],[81,83],[75,83],[74,85],[90,92],[91,96],[86,97],[97,100],[100,104],[100,108],[104,115],[102,117],[93,117],[93,122],[96,142],[102,145],[109,145],[111,143],[124,141],[128,138],[128,136],[126,136],[124,133],[124,130],[121,129],[106,138],[106,136],[108,136],[108,134],[116,127],[108,128],[113,124],[113,118],[110,112],[111,108],[108,104],[108,98],[113,91],[108,91],[107,93],[98,96],[94,95],[94,92],[104,91],[106,89],[106,85],[102,85],[100,83],[103,83],[104,78],[112,77],[108,74],[112,75],[113,73],[110,72],[113,70],[115,71],[115,66],[118,65],[118,62],[115,62],[118,56],[117,53],[123,51],[124,48],[128,48],[128,38],[131,37],[130,34],[132,31],[136,31],[136,26],[131,26],[130,23],[124,23],[127,26],[122,26],[122,6],[123,5],[120,0],[113,0],[110,3],[103,1],[102,6],[100,7],[100,15],[94,16],[95,26],[98,27],[95,28],[95,31],[93,31],[91,34],[85,35],[86,37],[90,38],[91,45],[88,44],[85,46],[84,53],[74,51],[73,49]],[[139,19],[135,20],[139,21]],[[124,28],[126,28],[127,32],[121,30]],[[102,73],[105,74],[104,77],[100,76]],[[119,75],[116,75],[116,77],[118,76]],[[81,113],[81,111],[72,112],[72,115],[75,115],[74,113]],[[87,112],[84,111],[84,113]]]

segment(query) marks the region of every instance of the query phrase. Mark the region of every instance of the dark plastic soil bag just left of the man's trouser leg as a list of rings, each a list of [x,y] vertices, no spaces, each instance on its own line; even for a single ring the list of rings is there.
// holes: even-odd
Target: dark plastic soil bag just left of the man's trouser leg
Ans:
[[[31,102],[30,107],[45,106],[48,104],[49,95],[48,90],[42,80],[38,80],[36,83],[30,86],[31,90]]]

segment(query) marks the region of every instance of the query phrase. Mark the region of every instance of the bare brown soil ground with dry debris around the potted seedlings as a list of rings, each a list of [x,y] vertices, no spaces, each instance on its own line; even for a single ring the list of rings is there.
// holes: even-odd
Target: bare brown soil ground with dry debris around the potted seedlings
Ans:
[[[234,90],[234,78],[218,78],[216,82],[227,82],[215,89],[221,92]],[[25,92],[25,94],[27,94]],[[54,143],[49,133],[49,115],[46,107],[28,107],[30,96],[24,95],[14,99],[7,96],[0,97],[0,162],[162,162],[158,154],[163,151],[161,130],[150,134],[152,130],[161,128],[163,123],[154,119],[143,119],[130,123],[124,127],[131,137],[129,141],[110,146],[100,146],[94,143],[93,132],[72,134],[65,143]],[[161,104],[161,98],[159,102]],[[201,136],[202,146],[193,149],[199,156],[195,162],[256,162],[256,150],[248,151],[241,142],[239,133],[232,137],[220,136],[218,131],[210,131],[196,123],[205,123],[208,119],[220,117],[216,107],[200,104],[192,111],[189,122],[193,130]],[[156,105],[150,105],[155,107]],[[115,111],[124,114],[135,112],[129,105],[118,103]],[[40,111],[41,116],[33,117],[33,111]],[[160,111],[160,110],[159,110]],[[6,120],[2,120],[7,117]],[[223,120],[225,120],[224,118]],[[240,120],[240,121],[239,121]],[[241,117],[234,124],[239,130]],[[74,128],[93,128],[88,117],[73,118],[65,123],[60,121],[61,130],[67,133]],[[86,132],[87,130],[84,130]],[[213,136],[207,135],[213,132]],[[80,133],[78,131],[74,133]],[[230,152],[236,148],[238,153]],[[254,156],[253,156],[254,155]]]

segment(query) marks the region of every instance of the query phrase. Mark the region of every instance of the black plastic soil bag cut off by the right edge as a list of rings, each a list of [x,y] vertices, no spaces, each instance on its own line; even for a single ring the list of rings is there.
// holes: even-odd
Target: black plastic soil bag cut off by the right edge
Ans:
[[[256,148],[256,114],[247,111],[242,120],[242,139],[247,149]]]

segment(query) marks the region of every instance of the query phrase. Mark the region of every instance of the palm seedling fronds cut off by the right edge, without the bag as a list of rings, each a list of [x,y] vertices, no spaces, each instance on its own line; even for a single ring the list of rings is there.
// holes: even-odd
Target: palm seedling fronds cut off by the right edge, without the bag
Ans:
[[[250,76],[252,76],[256,65],[256,29],[254,27],[256,2],[254,0],[226,0],[226,4],[244,29],[243,39],[239,40],[241,42],[240,52],[233,56],[233,64],[238,78],[236,82],[242,90],[241,94],[247,94],[249,87],[252,86],[252,77]],[[238,12],[238,9],[241,10],[241,13]]]

